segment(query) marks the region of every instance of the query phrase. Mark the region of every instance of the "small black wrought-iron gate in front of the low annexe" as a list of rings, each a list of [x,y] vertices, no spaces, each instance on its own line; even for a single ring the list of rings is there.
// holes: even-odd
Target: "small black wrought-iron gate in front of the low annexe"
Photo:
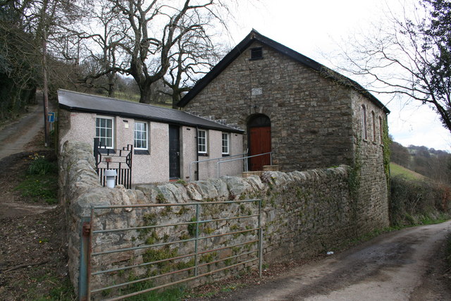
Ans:
[[[114,170],[117,173],[115,185],[132,188],[132,153],[133,145],[111,149],[102,146],[99,138],[94,138],[94,158],[101,185],[106,185],[105,171]]]

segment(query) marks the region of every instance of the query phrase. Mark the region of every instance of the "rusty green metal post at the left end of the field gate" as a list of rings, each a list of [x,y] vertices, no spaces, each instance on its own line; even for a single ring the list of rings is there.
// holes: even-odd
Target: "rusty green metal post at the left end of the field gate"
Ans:
[[[80,274],[78,275],[78,300],[89,300],[89,241],[91,217],[82,216],[80,227]]]

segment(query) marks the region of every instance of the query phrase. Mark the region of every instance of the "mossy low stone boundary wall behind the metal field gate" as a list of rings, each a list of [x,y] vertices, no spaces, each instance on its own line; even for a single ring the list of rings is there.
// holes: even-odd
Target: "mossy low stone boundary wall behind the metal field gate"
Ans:
[[[81,219],[82,216],[89,216],[91,204],[157,204],[262,199],[265,264],[311,257],[333,251],[348,240],[360,235],[359,229],[372,231],[388,225],[386,204],[366,204],[364,206],[361,202],[352,200],[349,193],[347,166],[290,173],[266,172],[261,177],[223,177],[191,183],[181,181],[180,183],[161,185],[140,185],[134,190],[125,190],[122,186],[113,189],[100,187],[94,171],[94,159],[88,145],[66,142],[63,145],[59,163],[61,170],[60,199],[66,208],[70,277],[75,288],[78,288],[80,267]],[[377,201],[373,200],[373,202]],[[203,209],[202,219],[221,219],[225,216],[235,216],[240,212],[254,214],[258,210],[253,204],[212,206],[216,207]],[[190,221],[193,211],[182,209],[182,207],[144,210],[115,209],[108,218],[101,221],[102,215],[106,217],[106,211],[99,213],[99,219],[94,225],[97,228],[122,228]],[[247,222],[235,220],[203,225],[200,231],[214,234],[251,227],[252,225]],[[247,235],[250,235],[250,239],[257,236],[255,233]],[[228,238],[228,241],[221,238],[214,240],[214,244],[219,247],[227,243],[230,245],[230,240],[240,242],[245,239],[244,236],[233,235]],[[183,240],[189,237],[190,228],[182,226],[153,232],[135,231],[126,235],[105,235],[96,238],[95,242],[99,247],[114,248]],[[98,251],[93,250],[93,252]],[[101,262],[104,267],[117,267],[124,262],[153,261],[151,259],[161,258],[161,252],[174,256],[182,254],[182,251],[190,252],[190,247],[182,245],[176,250],[168,247],[161,248],[158,250],[158,254],[136,251],[121,257],[106,256],[101,259]],[[215,252],[214,257],[221,259],[228,255],[230,254]],[[204,258],[202,260],[212,261],[214,259]],[[189,266],[190,262],[185,261],[182,264]],[[159,268],[165,269],[165,266],[159,266]],[[245,267],[241,269],[243,268]],[[152,274],[155,273],[154,269],[143,269],[138,274]],[[136,273],[135,276],[137,276]],[[228,275],[230,274],[224,273],[210,280]],[[123,275],[115,274],[113,278],[121,276]],[[130,275],[128,277],[130,278]],[[109,282],[106,278],[95,278],[93,281]],[[195,284],[199,283],[202,281]]]

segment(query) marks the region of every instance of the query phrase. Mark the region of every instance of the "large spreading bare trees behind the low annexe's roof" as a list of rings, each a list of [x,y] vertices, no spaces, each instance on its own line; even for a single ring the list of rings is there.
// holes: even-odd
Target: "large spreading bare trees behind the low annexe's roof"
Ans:
[[[20,49],[32,49],[32,54],[23,56],[30,62],[25,65],[42,64],[45,40],[47,62],[52,66],[44,70],[50,85],[81,84],[106,90],[112,97],[118,74],[131,75],[140,90],[140,102],[169,94],[175,105],[218,60],[212,37],[218,28],[226,28],[223,13],[228,13],[228,7],[222,1],[80,1],[83,13],[79,1],[70,0],[8,0],[0,5],[18,12],[19,31],[31,37],[22,38],[27,47],[13,42]],[[80,22],[82,15],[89,18],[85,25]],[[8,21],[2,25],[7,28]],[[8,39],[8,34],[0,33],[2,38]],[[6,66],[0,57],[2,65]],[[42,71],[31,70],[37,76],[28,78],[38,84]]]

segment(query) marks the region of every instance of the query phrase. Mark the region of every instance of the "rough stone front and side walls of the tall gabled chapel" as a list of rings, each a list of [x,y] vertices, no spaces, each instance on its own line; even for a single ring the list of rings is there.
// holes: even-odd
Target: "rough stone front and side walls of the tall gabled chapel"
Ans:
[[[263,47],[263,59],[249,60],[249,49],[253,47]],[[252,95],[254,88],[261,88],[261,94]],[[366,107],[366,139],[362,137],[362,104]],[[254,42],[184,109],[224,118],[244,129],[249,116],[264,113],[271,119],[273,161],[281,171],[358,166],[354,207],[367,219],[378,219],[374,222],[388,226],[388,189],[379,125],[385,113],[356,90]],[[384,214],[375,217],[373,211]],[[370,228],[359,231],[365,233]]]

